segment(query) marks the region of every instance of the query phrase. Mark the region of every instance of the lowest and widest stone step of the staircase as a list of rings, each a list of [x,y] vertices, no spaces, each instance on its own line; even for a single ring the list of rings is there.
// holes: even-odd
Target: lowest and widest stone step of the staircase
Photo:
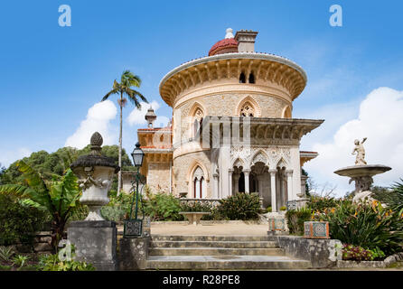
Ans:
[[[287,256],[149,256],[147,269],[306,269],[310,262]]]

